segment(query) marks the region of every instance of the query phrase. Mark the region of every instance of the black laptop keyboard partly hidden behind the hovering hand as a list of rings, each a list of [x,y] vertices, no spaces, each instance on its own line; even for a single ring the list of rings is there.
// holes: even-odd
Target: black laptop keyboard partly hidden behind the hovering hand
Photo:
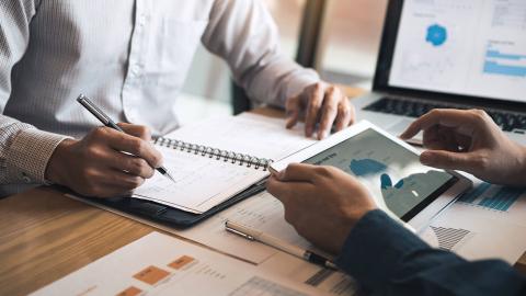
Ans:
[[[447,103],[428,103],[421,101],[401,100],[392,96],[385,96],[364,107],[367,111],[375,111],[387,114],[404,115],[409,117],[420,117],[433,109],[472,109],[466,105],[455,105]],[[516,129],[526,130],[526,114],[510,113],[498,110],[485,110],[493,121],[504,132]],[[523,133],[519,133],[523,134]]]

